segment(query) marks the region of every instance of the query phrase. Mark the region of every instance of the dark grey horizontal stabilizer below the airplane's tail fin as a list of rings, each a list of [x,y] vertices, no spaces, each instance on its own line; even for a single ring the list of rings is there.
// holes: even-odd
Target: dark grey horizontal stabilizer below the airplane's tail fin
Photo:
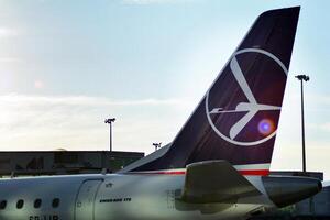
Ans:
[[[227,161],[208,161],[187,166],[182,201],[189,204],[235,202],[261,193]]]

